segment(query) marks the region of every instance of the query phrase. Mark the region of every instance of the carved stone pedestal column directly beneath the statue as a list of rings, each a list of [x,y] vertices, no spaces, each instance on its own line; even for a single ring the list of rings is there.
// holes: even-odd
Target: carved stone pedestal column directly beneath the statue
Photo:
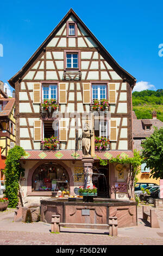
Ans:
[[[82,159],[83,167],[84,167],[84,188],[90,186],[93,188],[92,184],[92,174],[93,174],[93,162],[94,159],[91,156],[84,156]]]

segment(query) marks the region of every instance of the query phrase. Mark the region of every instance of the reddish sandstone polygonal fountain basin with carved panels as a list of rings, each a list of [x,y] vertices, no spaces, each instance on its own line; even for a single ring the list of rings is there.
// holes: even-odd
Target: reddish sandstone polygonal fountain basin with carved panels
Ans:
[[[62,223],[108,224],[116,216],[118,228],[137,225],[137,203],[131,200],[94,198],[92,203],[77,198],[47,198],[40,200],[41,221],[51,223],[52,215],[60,215]],[[66,224],[65,224],[66,227]]]

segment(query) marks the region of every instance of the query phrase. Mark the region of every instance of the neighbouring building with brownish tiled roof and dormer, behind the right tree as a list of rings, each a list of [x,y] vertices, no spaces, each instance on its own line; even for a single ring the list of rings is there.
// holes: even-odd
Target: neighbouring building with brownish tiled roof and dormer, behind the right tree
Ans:
[[[135,112],[133,111],[134,149],[141,152],[141,143],[152,135],[154,132],[153,126],[158,127],[158,129],[163,126],[162,121],[156,118],[156,111],[152,112],[152,119],[137,119]],[[160,185],[160,179],[149,178],[150,172],[150,169],[146,168],[146,163],[142,163],[140,173],[137,175],[137,182],[151,182]]]

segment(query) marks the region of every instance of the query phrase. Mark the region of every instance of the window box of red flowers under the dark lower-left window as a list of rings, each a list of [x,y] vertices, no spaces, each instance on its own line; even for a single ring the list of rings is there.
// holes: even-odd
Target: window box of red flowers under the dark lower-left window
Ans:
[[[59,150],[60,142],[58,137],[51,136],[50,138],[44,138],[41,142],[43,150]]]

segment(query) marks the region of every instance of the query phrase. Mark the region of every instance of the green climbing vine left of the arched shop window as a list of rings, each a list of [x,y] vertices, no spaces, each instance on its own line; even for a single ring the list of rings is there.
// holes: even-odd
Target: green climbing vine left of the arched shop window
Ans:
[[[15,146],[8,152],[5,161],[5,195],[9,199],[9,207],[15,208],[18,204],[18,181],[20,175],[24,176],[24,169],[21,167],[20,158],[26,155],[23,148]]]

